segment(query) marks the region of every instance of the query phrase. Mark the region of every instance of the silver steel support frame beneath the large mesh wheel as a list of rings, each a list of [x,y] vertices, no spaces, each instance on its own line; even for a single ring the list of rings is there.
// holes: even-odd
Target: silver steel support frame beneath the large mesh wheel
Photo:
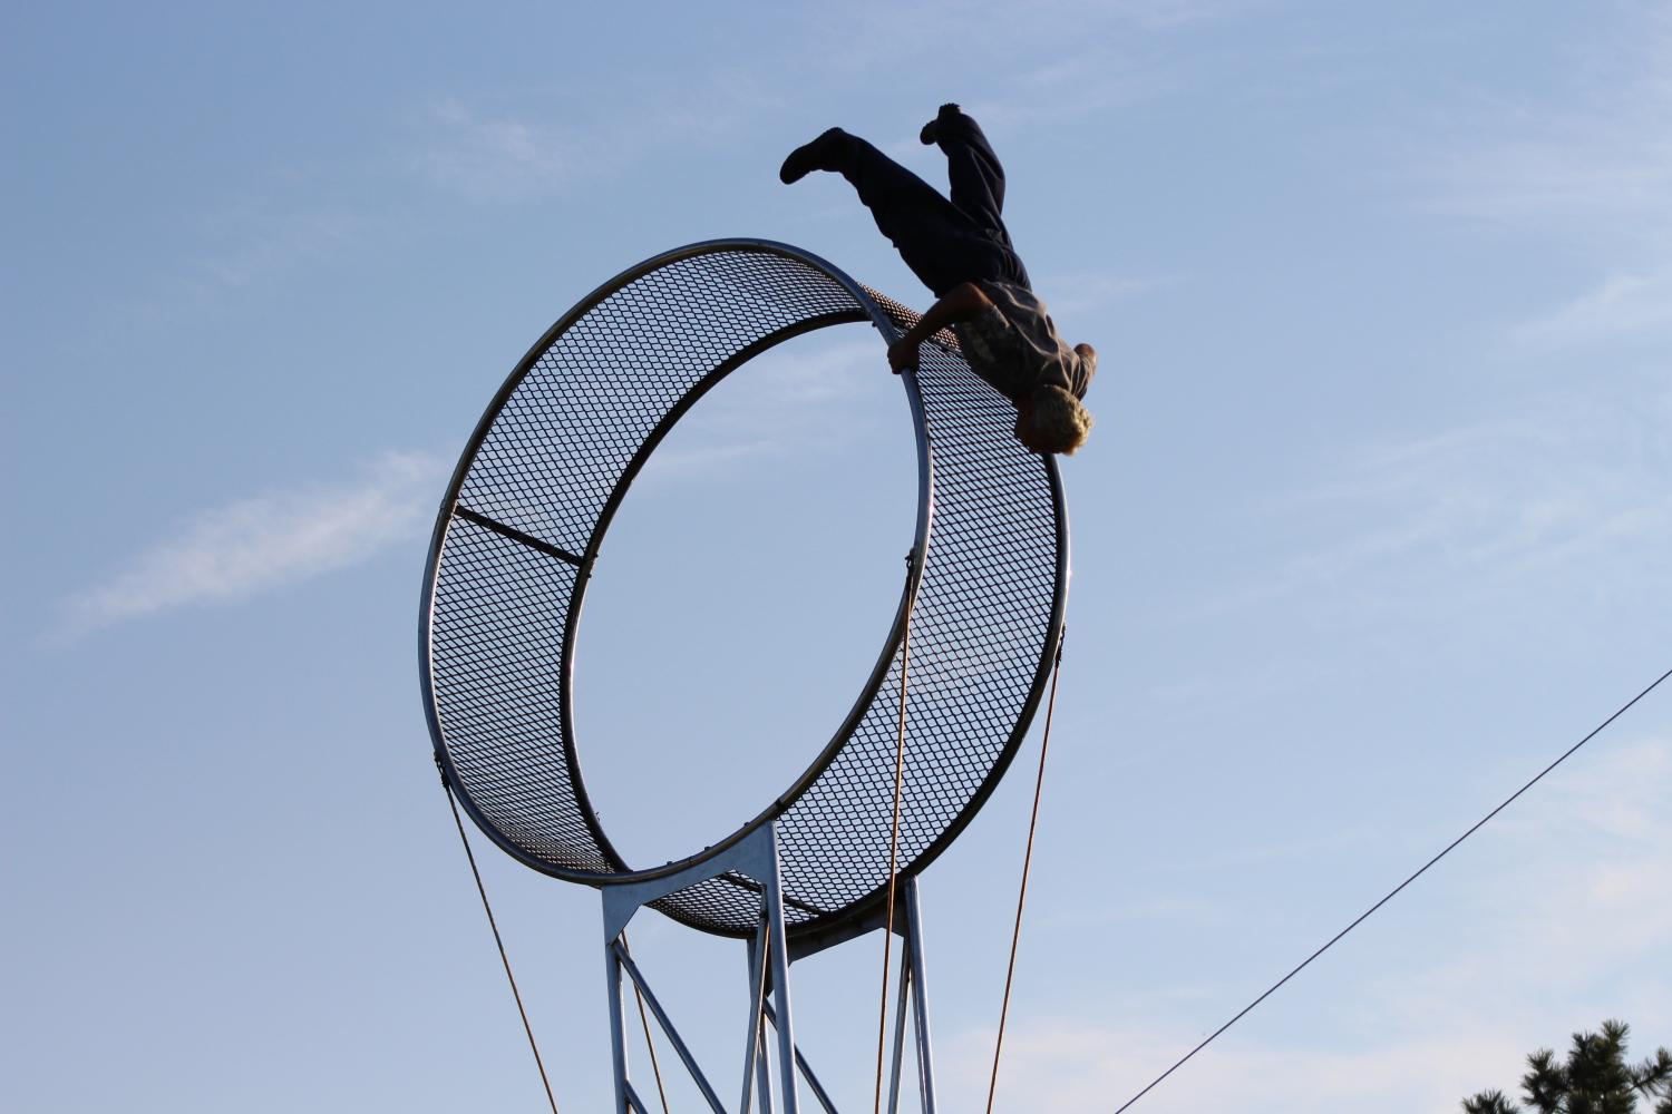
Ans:
[[[777,828],[767,823],[737,843],[724,848],[714,858],[692,865],[679,873],[622,885],[602,887],[604,897],[604,975],[610,1015],[610,1061],[615,1087],[615,1114],[654,1114],[632,1086],[627,1066],[627,1020],[624,1012],[622,979],[632,980],[662,1036],[667,1037],[679,1061],[686,1066],[697,1091],[714,1114],[727,1114],[714,1086],[702,1074],[696,1057],[679,1036],[679,1029],[662,1009],[644,972],[634,962],[622,942],[622,932],[645,905],[677,890],[737,872],[761,884],[761,917],[754,937],[747,942],[749,964],[749,1024],[744,1039],[742,1081],[737,1099],[739,1114],[801,1114],[799,1082],[824,1114],[838,1114],[813,1066],[796,1047],[793,1014],[789,1007],[789,965],[828,947],[868,935],[883,929],[884,914],[878,910],[866,920],[851,925],[838,935],[824,935],[811,942],[791,945],[784,927],[784,890],[777,857]],[[923,1114],[936,1114],[935,1057],[931,1051],[928,984],[923,960],[923,914],[915,877],[900,880],[900,900],[891,927],[901,937],[898,992],[895,999],[893,1069],[890,1072],[888,1111],[898,1114],[905,1067],[905,1037],[910,1014],[913,1030],[915,1067],[918,1076],[918,1102]],[[776,1036],[776,1041],[772,1041]],[[772,1064],[769,1049],[776,1046],[777,1102],[772,1094]],[[757,1106],[756,1106],[757,1104]]]

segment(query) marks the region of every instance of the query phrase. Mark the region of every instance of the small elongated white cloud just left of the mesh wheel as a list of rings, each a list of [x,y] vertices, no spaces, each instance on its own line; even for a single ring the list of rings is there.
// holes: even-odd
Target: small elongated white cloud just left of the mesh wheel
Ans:
[[[242,600],[364,561],[421,531],[443,478],[438,458],[388,453],[348,481],[204,511],[72,596],[60,633],[74,638],[181,606]]]

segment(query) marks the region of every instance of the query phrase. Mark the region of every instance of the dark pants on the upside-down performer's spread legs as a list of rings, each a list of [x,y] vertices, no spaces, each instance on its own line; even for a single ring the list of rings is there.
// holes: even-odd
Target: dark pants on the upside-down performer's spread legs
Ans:
[[[828,169],[859,192],[876,227],[923,286],[943,297],[963,282],[1013,282],[1032,289],[1028,272],[1010,246],[1000,212],[1005,207],[1005,169],[970,117],[938,119],[936,144],[946,154],[951,200],[858,135],[841,132],[829,149]]]

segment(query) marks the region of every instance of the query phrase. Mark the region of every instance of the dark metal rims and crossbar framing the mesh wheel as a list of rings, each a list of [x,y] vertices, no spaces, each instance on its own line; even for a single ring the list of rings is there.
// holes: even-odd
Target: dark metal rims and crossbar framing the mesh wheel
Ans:
[[[507,403],[513,399],[525,377],[537,367],[543,354],[547,354],[560,337],[563,337],[577,322],[582,322],[589,312],[602,306],[607,299],[614,297],[617,292],[625,291],[634,282],[645,279],[649,276],[657,276],[667,269],[679,267],[689,261],[697,261],[701,257],[716,256],[759,256],[762,259],[793,261],[799,267],[808,269],[811,274],[818,274],[826,281],[834,282],[846,297],[851,299],[851,307],[826,309],[818,314],[801,317],[779,327],[766,336],[759,336],[751,344],[731,354],[731,357],[716,364],[706,376],[701,377],[691,389],[670,406],[647,436],[637,446],[632,454],[630,463],[619,474],[614,488],[605,499],[602,511],[599,513],[595,524],[590,531],[590,538],[580,553],[568,551],[562,546],[552,544],[542,538],[532,536],[530,533],[518,531],[505,523],[497,523],[488,519],[472,508],[460,503],[460,493],[475,466],[477,456],[483,448],[483,443],[490,438],[500,419],[502,411]],[[701,312],[701,307],[697,307]],[[441,501],[441,508],[436,518],[435,536],[430,548],[430,560],[425,575],[425,596],[421,608],[420,623],[420,656],[423,668],[423,698],[425,698],[425,715],[430,725],[431,738],[435,743],[436,757],[443,768],[448,772],[453,785],[458,787],[458,800],[472,820],[495,842],[502,850],[510,853],[518,862],[548,873],[552,877],[565,879],[570,882],[582,882],[595,887],[617,889],[622,884],[634,882],[657,882],[674,877],[684,877],[692,870],[704,870],[704,863],[711,863],[722,857],[727,850],[741,845],[751,835],[766,830],[776,820],[784,817],[804,793],[813,788],[821,777],[838,762],[843,755],[844,747],[848,747],[853,733],[858,730],[861,718],[871,708],[873,701],[878,698],[883,685],[890,678],[891,665],[898,655],[898,648],[905,633],[905,625],[908,621],[908,613],[913,600],[913,593],[920,578],[925,573],[926,554],[933,543],[933,526],[935,526],[935,448],[931,443],[931,429],[925,416],[923,387],[918,376],[908,372],[901,376],[901,382],[906,392],[906,399],[911,409],[913,429],[916,439],[916,456],[918,456],[918,514],[915,523],[915,536],[911,551],[908,554],[908,575],[906,585],[901,591],[901,601],[896,610],[896,616],[890,626],[884,643],[878,653],[876,665],[871,670],[859,696],[856,698],[853,710],[843,722],[843,725],[834,732],[826,747],[806,768],[806,772],[796,778],[796,782],[777,798],[774,798],[766,808],[762,808],[754,818],[742,823],[736,832],[724,837],[717,843],[704,848],[699,853],[689,855],[686,858],[669,862],[660,867],[634,870],[622,857],[617,853],[609,837],[604,833],[602,825],[590,807],[585,792],[585,782],[580,773],[580,760],[573,738],[572,723],[572,700],[570,680],[573,670],[573,655],[579,633],[580,608],[585,596],[585,578],[599,556],[599,549],[604,534],[625,498],[627,489],[639,474],[644,463],[649,459],[650,453],[662,441],[669,429],[686,414],[691,406],[694,406],[714,384],[717,384],[724,376],[731,374],[736,367],[742,366],[754,356],[781,344],[786,339],[801,336],[804,332],[828,327],[833,324],[844,322],[863,322],[871,321],[871,324],[881,332],[884,341],[893,341],[903,327],[915,321],[915,314],[905,307],[891,302],[890,299],[868,291],[866,287],[854,282],[851,277],[828,264],[826,261],[803,252],[799,249],[789,247],[786,244],[774,244],[769,241],[711,241],[706,244],[694,244],[672,252],[665,252],[650,261],[632,267],[620,276],[610,279],[590,296],[582,299],[568,314],[565,314],[547,334],[528,351],[528,354],[518,362],[517,369],[507,379],[507,382],[497,392],[493,403],[488,406],[483,418],[478,421],[475,433],[460,463],[453,473],[451,483],[448,484],[446,496]],[[1067,534],[1067,514],[1063,506],[1062,483],[1052,458],[1042,459],[1042,479],[1048,489],[1050,513],[1053,518],[1055,529],[1055,570],[1053,570],[1053,596],[1050,600],[1048,618],[1045,621],[1045,630],[1038,631],[1038,655],[1033,665],[1032,685],[1022,700],[1015,723],[1008,733],[1008,740],[998,748],[997,755],[991,758],[991,765],[986,768],[985,777],[980,780],[976,788],[968,795],[961,810],[950,818],[943,827],[938,828],[938,835],[930,838],[926,845],[918,850],[910,860],[903,862],[900,873],[903,877],[913,877],[921,872],[933,858],[936,858],[951,840],[963,830],[963,827],[973,818],[985,803],[986,797],[993,792],[1003,772],[1008,768],[1012,758],[1015,757],[1023,735],[1032,722],[1033,713],[1043,695],[1043,686],[1048,678],[1050,668],[1050,651],[1055,646],[1060,630],[1063,605],[1067,595],[1068,581],[1068,534]],[[604,868],[575,868],[563,865],[560,862],[552,862],[537,853],[528,852],[522,847],[510,833],[502,830],[488,815],[482,812],[472,793],[472,778],[463,775],[453,762],[453,755],[448,748],[448,735],[443,725],[443,715],[436,705],[436,681],[435,681],[435,630],[433,630],[433,611],[436,606],[438,578],[441,571],[443,551],[446,549],[451,531],[456,523],[468,523],[472,526],[482,526],[485,529],[495,531],[502,538],[510,538],[520,546],[527,546],[545,556],[572,566],[575,570],[575,586],[568,600],[568,613],[563,625],[563,645],[560,658],[560,683],[563,691],[562,700],[562,760],[567,763],[568,770],[568,788],[573,798],[573,807],[579,810],[580,820],[585,823],[590,838],[595,842],[599,853],[604,858]],[[717,872],[709,872],[709,879],[717,877]],[[732,879],[726,879],[731,882]],[[667,890],[674,894],[681,887]],[[878,907],[883,900],[886,890],[886,879],[878,879],[876,887],[853,900],[848,900],[839,909],[813,909],[808,905],[796,905],[798,917],[809,917],[801,920],[801,924],[791,925],[789,932],[796,940],[803,939],[836,939],[851,935],[858,925],[864,924],[868,919],[878,915]],[[809,912],[811,910],[811,912]],[[667,912],[667,909],[664,909]],[[675,919],[686,920],[686,924],[694,924],[696,927],[704,927],[711,932],[721,932],[724,935],[746,935],[747,930],[741,929],[716,929],[704,924],[696,924],[677,912],[672,912]]]

